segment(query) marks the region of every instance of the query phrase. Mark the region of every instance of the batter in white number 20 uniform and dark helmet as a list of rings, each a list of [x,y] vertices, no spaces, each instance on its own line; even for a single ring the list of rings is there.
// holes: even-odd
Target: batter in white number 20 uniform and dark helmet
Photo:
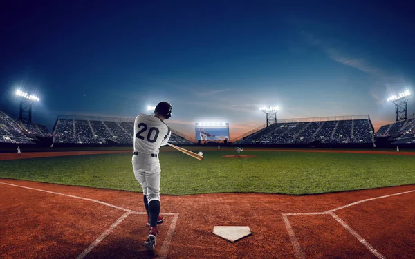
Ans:
[[[156,247],[157,224],[163,222],[160,217],[160,146],[167,145],[172,132],[164,123],[172,115],[172,105],[160,102],[154,109],[154,115],[138,115],[134,122],[133,171],[142,186],[144,207],[147,211],[147,226],[150,226],[145,247]]]

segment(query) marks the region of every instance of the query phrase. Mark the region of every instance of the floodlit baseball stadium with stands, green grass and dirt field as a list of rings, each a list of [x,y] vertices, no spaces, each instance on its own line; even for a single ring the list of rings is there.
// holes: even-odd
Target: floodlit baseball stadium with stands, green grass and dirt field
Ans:
[[[160,161],[166,168],[161,184],[166,202],[161,215],[167,222],[160,227],[165,235],[158,238],[163,247],[156,254],[148,254],[138,247],[135,232],[129,229],[131,220],[145,214],[136,204],[127,202],[140,191],[129,164],[134,118],[58,115],[52,131],[48,131],[46,126],[31,121],[31,106],[39,99],[28,99],[29,95],[20,90],[16,95],[21,93],[19,118],[0,112],[0,184],[2,200],[8,200],[2,204],[2,214],[6,215],[3,229],[9,229],[4,232],[2,258],[15,258],[16,253],[25,258],[56,256],[55,249],[59,250],[59,258],[216,258],[223,256],[223,251],[216,250],[223,246],[229,250],[226,258],[234,253],[238,258],[252,258],[259,251],[267,251],[267,256],[261,258],[331,258],[333,253],[353,258],[390,258],[391,252],[399,258],[413,255],[405,245],[413,241],[408,232],[412,224],[408,215],[413,215],[413,209],[402,211],[403,204],[412,202],[415,191],[415,152],[411,151],[415,119],[407,118],[406,110],[396,108],[396,123],[381,126],[376,133],[369,115],[277,119],[276,106],[261,107],[266,124],[233,140],[229,140],[227,122],[195,122],[195,138],[172,128],[169,144],[195,153],[203,151],[204,159],[199,162],[171,147],[161,149]],[[410,93],[399,96],[394,102],[406,103]],[[147,110],[154,112],[154,106]],[[400,114],[405,116],[401,118]],[[203,138],[202,131],[210,133]],[[397,145],[403,151],[395,151]],[[17,146],[22,153],[15,152]],[[239,148],[237,153],[235,148]],[[28,199],[27,193],[35,198],[29,198],[30,204],[21,204]],[[111,198],[116,194],[120,198]],[[54,195],[63,198],[55,200]],[[379,199],[385,199],[387,205]],[[80,205],[72,204],[74,200]],[[294,207],[280,207],[281,203],[294,201]],[[7,219],[20,214],[13,212],[16,202],[20,202],[20,209],[44,213],[35,217],[41,226],[42,222],[54,221],[47,223],[51,227],[42,230],[42,236],[26,244],[36,247],[34,250],[24,249],[8,238],[16,229],[24,236],[39,231],[38,227],[6,227],[15,225]],[[244,206],[238,207],[241,202]],[[257,211],[254,204],[265,206],[269,212]],[[358,209],[358,204],[365,206]],[[88,209],[80,212],[80,206]],[[277,211],[270,206],[276,206]],[[390,213],[379,214],[385,206]],[[117,209],[111,211],[111,207]],[[52,215],[52,208],[66,213]],[[114,210],[124,211],[124,215],[118,218],[120,214]],[[81,219],[79,213],[88,216]],[[207,213],[210,220],[205,219]],[[273,220],[268,218],[269,213]],[[190,233],[183,233],[180,225],[190,215],[194,218],[187,224]],[[403,217],[403,224],[386,227],[396,217]],[[102,227],[96,227],[95,220]],[[215,229],[210,227],[217,220],[222,227],[246,226],[249,234],[233,239],[214,235]],[[267,227],[257,224],[261,221]],[[23,219],[21,224],[33,223]],[[56,224],[66,230],[57,231]],[[84,233],[73,224],[83,224],[89,230]],[[385,230],[380,231],[378,224],[384,224]],[[91,227],[97,230],[90,232]],[[328,232],[316,233],[317,229]],[[389,239],[391,229],[400,233],[394,234],[396,242]],[[61,232],[65,237],[48,236]],[[85,236],[84,241],[74,237],[77,233]],[[182,243],[183,235],[190,235],[193,241],[187,238]],[[264,235],[272,242],[257,247]],[[123,240],[118,240],[121,236]],[[356,240],[350,240],[353,236]],[[385,249],[385,238],[400,247],[399,251]],[[200,240],[203,246],[198,244]],[[333,240],[341,241],[334,244]],[[39,242],[46,243],[46,247],[39,247]],[[360,247],[356,247],[359,242]],[[315,248],[317,244],[320,247]]]

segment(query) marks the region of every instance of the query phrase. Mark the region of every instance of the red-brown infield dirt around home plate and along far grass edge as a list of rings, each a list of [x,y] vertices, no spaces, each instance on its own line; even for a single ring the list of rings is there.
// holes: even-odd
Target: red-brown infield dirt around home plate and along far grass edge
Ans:
[[[141,193],[0,178],[0,258],[414,258],[414,203],[415,184],[302,196],[162,195],[165,222],[149,252]],[[249,226],[252,236],[230,243],[214,226]]]

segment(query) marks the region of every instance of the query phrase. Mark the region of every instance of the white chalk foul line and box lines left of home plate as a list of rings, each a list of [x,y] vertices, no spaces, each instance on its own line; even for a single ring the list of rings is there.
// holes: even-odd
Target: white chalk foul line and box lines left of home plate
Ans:
[[[115,229],[118,224],[120,224],[122,222],[122,220],[124,220],[125,218],[127,218],[128,215],[130,214],[139,214],[139,215],[147,215],[147,212],[140,212],[140,211],[133,211],[131,209],[125,209],[122,207],[118,207],[116,205],[113,204],[109,204],[107,202],[101,202],[100,200],[93,200],[90,198],[84,198],[84,197],[79,197],[79,196],[75,196],[75,195],[68,195],[68,194],[64,194],[64,193],[56,193],[54,191],[46,191],[46,190],[42,190],[42,189],[35,189],[35,188],[31,188],[31,187],[27,187],[27,186],[21,186],[21,185],[17,185],[17,184],[9,184],[6,182],[0,182],[0,184],[5,184],[5,185],[10,185],[10,186],[15,186],[15,187],[19,187],[19,188],[24,188],[24,189],[30,189],[30,190],[34,190],[34,191],[42,191],[44,193],[52,193],[52,194],[56,194],[56,195],[63,195],[66,197],[70,197],[70,198],[76,198],[76,199],[80,199],[80,200],[87,200],[89,202],[96,202],[108,207],[112,207],[115,209],[120,209],[122,211],[126,211],[126,213],[124,213],[120,218],[118,218],[118,220],[116,222],[114,222],[111,227],[109,227],[109,229],[105,230],[94,242],[92,242],[88,248],[86,248],[81,254],[80,256],[77,257],[77,259],[82,259],[84,258],[90,251],[92,251],[93,248],[95,248],[96,246],[98,246],[98,244],[104,240],[105,237],[107,237],[109,235],[109,233],[111,233],[113,231],[113,229]],[[174,229],[176,228],[176,223],[178,220],[178,215],[180,215],[179,213],[160,213],[160,215],[174,215],[174,218],[172,220],[172,222],[170,223],[169,226],[169,230],[167,232],[167,236],[163,242],[163,246],[161,247],[160,250],[160,259],[161,258],[165,258],[167,256],[167,253],[169,252],[169,247],[170,247],[170,243],[172,242],[172,238],[173,238],[173,234],[174,234]]]

